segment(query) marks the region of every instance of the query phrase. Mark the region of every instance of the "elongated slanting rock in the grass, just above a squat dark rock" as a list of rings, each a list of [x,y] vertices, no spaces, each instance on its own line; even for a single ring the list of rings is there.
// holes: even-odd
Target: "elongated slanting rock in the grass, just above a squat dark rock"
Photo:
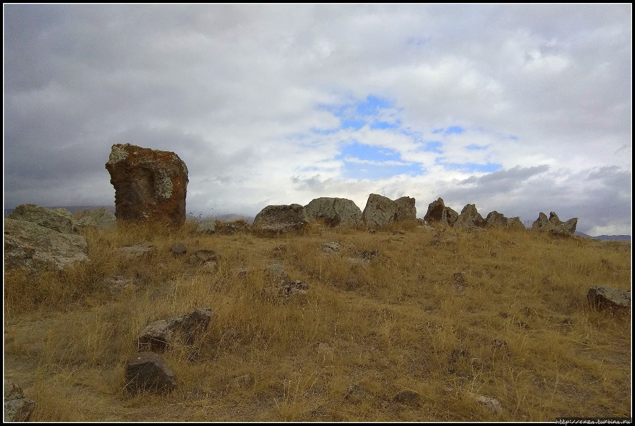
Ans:
[[[212,314],[211,308],[206,307],[171,319],[154,321],[139,333],[137,347],[140,350],[163,352],[176,342],[191,345],[208,328]]]

